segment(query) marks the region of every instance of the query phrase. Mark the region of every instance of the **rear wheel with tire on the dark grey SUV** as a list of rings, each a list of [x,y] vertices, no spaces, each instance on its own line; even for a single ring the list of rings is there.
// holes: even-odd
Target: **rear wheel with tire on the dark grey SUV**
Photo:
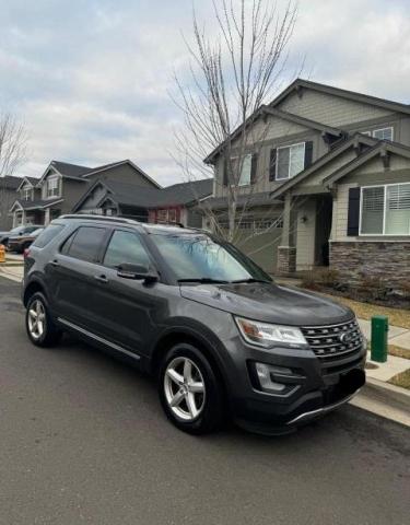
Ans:
[[[52,322],[47,300],[40,292],[36,292],[28,300],[25,328],[28,339],[37,347],[52,347],[61,338],[62,332]]]

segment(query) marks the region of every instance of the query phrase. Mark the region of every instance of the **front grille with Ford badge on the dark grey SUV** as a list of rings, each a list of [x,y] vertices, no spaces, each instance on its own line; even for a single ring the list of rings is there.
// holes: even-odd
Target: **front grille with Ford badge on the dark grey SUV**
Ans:
[[[304,326],[302,332],[318,358],[348,355],[362,348],[362,332],[355,319],[338,325]]]

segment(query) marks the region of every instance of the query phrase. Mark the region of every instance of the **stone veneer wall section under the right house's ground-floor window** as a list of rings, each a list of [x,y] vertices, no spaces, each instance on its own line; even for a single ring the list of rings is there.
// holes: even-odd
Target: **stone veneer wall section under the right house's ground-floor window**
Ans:
[[[353,284],[376,277],[400,290],[410,282],[410,242],[331,242],[330,267]]]

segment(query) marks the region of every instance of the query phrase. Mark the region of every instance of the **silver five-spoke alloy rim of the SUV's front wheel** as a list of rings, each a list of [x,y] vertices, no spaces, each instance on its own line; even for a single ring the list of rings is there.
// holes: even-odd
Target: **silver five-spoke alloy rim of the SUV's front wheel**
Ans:
[[[194,421],[206,401],[206,385],[199,368],[188,358],[173,359],[165,371],[164,389],[173,413],[183,421]]]

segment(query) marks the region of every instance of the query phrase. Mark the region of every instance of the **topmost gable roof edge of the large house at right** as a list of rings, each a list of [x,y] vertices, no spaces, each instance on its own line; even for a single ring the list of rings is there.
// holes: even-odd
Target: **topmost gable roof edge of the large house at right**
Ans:
[[[402,104],[400,102],[389,101],[387,98],[379,98],[377,96],[366,95],[364,93],[358,93],[355,91],[342,90],[340,88],[333,88],[328,84],[320,84],[319,82],[313,82],[305,79],[294,80],[285,90],[282,91],[270,104],[273,107],[280,104],[292,92],[297,92],[301,89],[306,88],[309,90],[318,91],[320,93],[327,93],[329,95],[340,96],[354,102],[362,102],[364,104],[371,104],[373,106],[382,107],[391,112],[399,112],[410,114],[410,105]]]

